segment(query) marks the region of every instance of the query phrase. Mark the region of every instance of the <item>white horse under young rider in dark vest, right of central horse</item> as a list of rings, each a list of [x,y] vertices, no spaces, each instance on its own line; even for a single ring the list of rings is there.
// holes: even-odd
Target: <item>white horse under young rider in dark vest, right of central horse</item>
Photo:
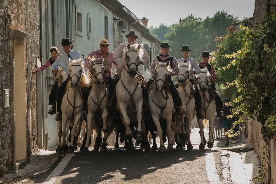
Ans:
[[[153,90],[151,90],[149,94],[149,109],[151,111],[151,117],[154,121],[155,126],[157,127],[158,136],[160,137],[160,147],[159,151],[173,151],[173,144],[171,141],[171,121],[172,121],[172,113],[174,110],[174,102],[171,94],[167,93],[163,90],[163,85],[167,80],[168,76],[168,66],[170,62],[167,63],[159,63],[156,59],[154,61],[156,63],[154,80],[153,80]],[[159,118],[162,118],[167,121],[167,138],[168,138],[168,147],[167,149],[164,146],[164,142],[162,139],[162,129],[160,126]]]

